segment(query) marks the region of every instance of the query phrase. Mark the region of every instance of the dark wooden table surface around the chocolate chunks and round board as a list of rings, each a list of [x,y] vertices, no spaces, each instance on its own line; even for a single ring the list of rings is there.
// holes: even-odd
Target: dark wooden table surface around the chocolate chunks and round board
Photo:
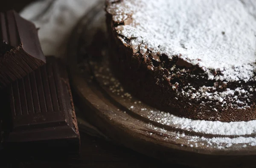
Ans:
[[[0,0],[0,11],[15,9],[20,11],[33,0]],[[57,158],[57,156],[56,156]],[[81,155],[76,159],[28,159],[3,162],[0,167],[6,168],[185,168],[180,165],[164,163],[152,159],[128,148],[113,144],[106,140],[81,133]],[[187,168],[187,167],[186,167]]]

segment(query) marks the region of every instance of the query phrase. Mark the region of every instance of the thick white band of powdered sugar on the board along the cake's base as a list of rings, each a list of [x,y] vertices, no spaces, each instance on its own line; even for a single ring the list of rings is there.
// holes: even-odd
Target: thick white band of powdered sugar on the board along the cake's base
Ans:
[[[256,133],[256,120],[241,122],[220,122],[191,120],[177,117],[163,111],[150,111],[147,118],[163,125],[174,125],[177,129],[217,135],[249,135]]]

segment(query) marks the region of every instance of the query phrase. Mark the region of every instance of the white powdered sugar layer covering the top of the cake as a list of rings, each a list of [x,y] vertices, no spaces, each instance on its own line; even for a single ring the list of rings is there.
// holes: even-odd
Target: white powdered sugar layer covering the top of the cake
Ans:
[[[247,82],[256,68],[256,12],[248,3],[256,1],[122,0],[107,11],[125,23],[116,30],[134,52],[179,56],[209,80]]]

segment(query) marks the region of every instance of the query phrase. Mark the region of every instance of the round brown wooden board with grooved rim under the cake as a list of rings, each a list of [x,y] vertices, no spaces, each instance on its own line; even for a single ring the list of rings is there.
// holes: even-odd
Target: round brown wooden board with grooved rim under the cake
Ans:
[[[106,39],[104,5],[99,3],[81,19],[68,46],[74,100],[86,120],[114,142],[160,160],[207,168],[254,167],[256,146],[218,148],[227,144],[206,145],[208,141],[200,137],[232,137],[159,122],[161,118],[152,114],[157,109],[126,93],[112,76]],[[195,137],[199,138],[193,141]]]

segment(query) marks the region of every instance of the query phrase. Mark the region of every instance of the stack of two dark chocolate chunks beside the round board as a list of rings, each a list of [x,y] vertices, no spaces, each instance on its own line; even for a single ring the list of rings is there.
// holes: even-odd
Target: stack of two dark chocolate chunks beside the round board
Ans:
[[[66,68],[45,57],[35,25],[0,13],[2,151],[79,152],[80,136]]]

